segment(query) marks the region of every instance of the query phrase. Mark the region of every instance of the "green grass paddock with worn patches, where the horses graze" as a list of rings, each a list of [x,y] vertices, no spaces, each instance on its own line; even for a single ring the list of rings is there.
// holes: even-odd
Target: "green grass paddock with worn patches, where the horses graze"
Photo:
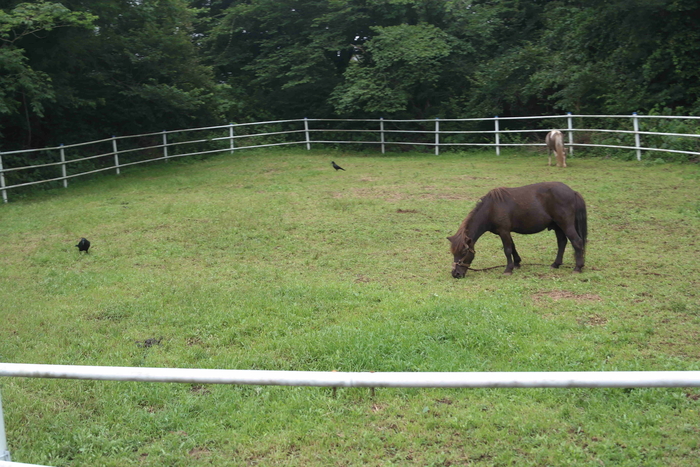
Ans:
[[[335,172],[330,161],[345,169]],[[585,198],[582,274],[450,276],[498,186]],[[237,152],[0,206],[0,361],[338,371],[700,370],[700,167],[484,152]],[[85,236],[89,255],[74,245]],[[505,265],[500,240],[475,268]],[[149,345],[153,344],[153,345]],[[339,389],[0,380],[54,466],[697,466],[700,389]]]

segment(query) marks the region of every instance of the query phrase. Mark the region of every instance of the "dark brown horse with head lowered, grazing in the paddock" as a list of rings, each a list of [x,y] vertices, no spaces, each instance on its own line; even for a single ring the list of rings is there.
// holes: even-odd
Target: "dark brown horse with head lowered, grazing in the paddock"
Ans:
[[[457,233],[447,237],[454,255],[452,277],[464,277],[474,260],[474,244],[486,232],[501,237],[508,264],[504,274],[520,267],[520,255],[515,249],[511,232],[533,234],[544,229],[557,235],[557,257],[552,263],[558,268],[564,259],[567,238],[574,247],[576,267],[583,268],[588,221],[583,197],[561,182],[535,183],[518,188],[495,188],[477,203],[459,226]]]

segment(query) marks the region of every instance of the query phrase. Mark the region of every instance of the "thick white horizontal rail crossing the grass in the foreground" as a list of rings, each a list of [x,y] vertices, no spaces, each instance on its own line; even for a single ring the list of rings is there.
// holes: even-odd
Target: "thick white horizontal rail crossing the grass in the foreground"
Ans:
[[[700,371],[324,372],[0,363],[0,377],[151,383],[393,388],[700,387]]]

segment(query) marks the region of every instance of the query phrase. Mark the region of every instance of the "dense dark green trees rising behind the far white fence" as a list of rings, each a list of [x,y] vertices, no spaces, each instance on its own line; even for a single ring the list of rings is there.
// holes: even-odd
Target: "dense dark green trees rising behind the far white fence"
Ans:
[[[0,0],[0,151],[285,118],[697,115],[696,0]]]

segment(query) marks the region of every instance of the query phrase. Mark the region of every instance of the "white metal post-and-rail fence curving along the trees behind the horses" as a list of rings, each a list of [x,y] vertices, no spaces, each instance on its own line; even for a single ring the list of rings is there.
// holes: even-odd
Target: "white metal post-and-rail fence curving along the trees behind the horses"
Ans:
[[[562,122],[563,120],[563,122]],[[575,126],[574,123],[577,125]],[[179,157],[284,145],[372,145],[441,148],[544,146],[551,129],[567,133],[574,148],[700,156],[700,117],[648,115],[551,115],[468,119],[296,119],[162,131],[57,147],[0,152],[0,193],[39,184],[68,187],[75,177]],[[659,131],[668,129],[671,131]],[[682,130],[682,131],[679,131]],[[642,138],[646,144],[642,145]],[[32,164],[33,159],[50,160]],[[29,161],[30,163],[27,163]]]

